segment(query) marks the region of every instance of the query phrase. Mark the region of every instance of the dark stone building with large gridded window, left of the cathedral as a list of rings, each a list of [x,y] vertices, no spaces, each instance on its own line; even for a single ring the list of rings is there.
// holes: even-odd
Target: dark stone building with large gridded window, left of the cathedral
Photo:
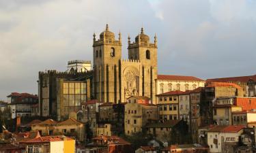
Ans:
[[[81,102],[91,98],[91,80],[92,71],[39,72],[40,116],[66,120],[70,113],[81,110]]]

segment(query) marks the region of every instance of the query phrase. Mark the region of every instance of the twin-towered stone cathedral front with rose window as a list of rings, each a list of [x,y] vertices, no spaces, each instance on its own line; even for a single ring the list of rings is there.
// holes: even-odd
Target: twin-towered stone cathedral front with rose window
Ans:
[[[96,40],[94,34],[95,99],[102,102],[124,103],[132,95],[145,96],[156,103],[157,39],[141,33],[131,43],[128,37],[128,59],[122,58],[122,36],[106,29]]]

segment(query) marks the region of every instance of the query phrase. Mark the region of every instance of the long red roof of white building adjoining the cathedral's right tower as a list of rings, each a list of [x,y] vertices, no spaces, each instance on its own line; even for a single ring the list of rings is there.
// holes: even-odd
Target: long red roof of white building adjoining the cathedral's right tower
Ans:
[[[201,81],[199,78],[194,76],[182,76],[182,75],[157,75],[158,80],[185,80],[185,81]]]

